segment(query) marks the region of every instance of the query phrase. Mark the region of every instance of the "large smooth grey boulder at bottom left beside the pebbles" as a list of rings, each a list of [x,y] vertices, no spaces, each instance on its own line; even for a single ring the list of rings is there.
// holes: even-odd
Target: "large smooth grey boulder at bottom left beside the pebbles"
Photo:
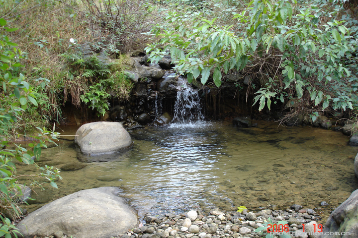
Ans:
[[[116,187],[98,187],[57,199],[23,219],[17,228],[24,238],[51,236],[110,238],[138,226],[134,211],[119,197]]]

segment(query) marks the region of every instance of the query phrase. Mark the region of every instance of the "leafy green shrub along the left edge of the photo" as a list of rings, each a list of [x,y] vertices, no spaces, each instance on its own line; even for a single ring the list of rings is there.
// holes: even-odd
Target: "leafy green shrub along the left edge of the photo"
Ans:
[[[8,217],[14,219],[21,215],[18,203],[22,191],[14,161],[35,165],[41,171],[38,175],[27,175],[32,179],[27,184],[29,186],[40,186],[37,180],[41,178],[57,187],[55,181],[61,178],[59,170],[48,166],[39,167],[35,163],[40,158],[41,148],[46,147],[45,142],[54,143],[57,133],[38,128],[40,133],[33,136],[37,142],[30,143],[28,149],[10,143],[11,138],[20,136],[18,129],[21,128],[23,117],[38,106],[36,92],[20,73],[22,65],[19,60],[23,53],[5,35],[15,30],[6,27],[6,21],[0,18],[0,236],[5,238],[11,238],[11,235],[17,237],[18,234]]]

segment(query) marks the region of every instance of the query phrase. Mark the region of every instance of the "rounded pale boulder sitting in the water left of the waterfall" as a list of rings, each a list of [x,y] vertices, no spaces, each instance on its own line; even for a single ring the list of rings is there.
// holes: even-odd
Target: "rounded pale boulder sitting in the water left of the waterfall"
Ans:
[[[120,122],[98,121],[82,125],[75,142],[86,155],[108,154],[129,147],[131,137]]]

